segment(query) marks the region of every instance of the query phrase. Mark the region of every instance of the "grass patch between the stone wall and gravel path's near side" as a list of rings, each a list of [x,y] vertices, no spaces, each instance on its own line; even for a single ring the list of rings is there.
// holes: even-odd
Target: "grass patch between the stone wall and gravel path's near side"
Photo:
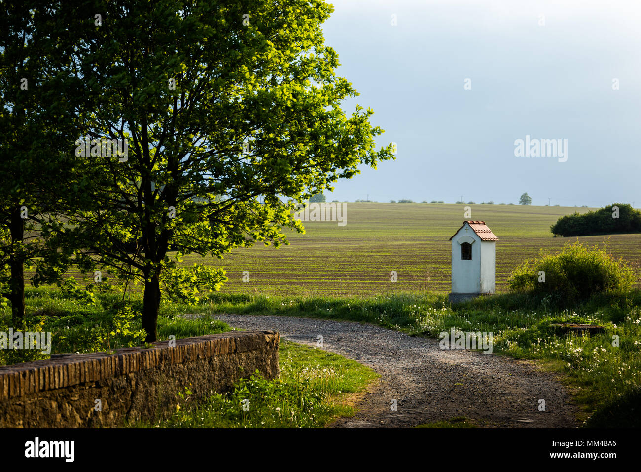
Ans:
[[[369,367],[338,354],[281,342],[280,376],[242,379],[228,394],[215,394],[192,405],[186,389],[176,411],[156,428],[314,428],[336,417],[351,416],[351,396],[378,377]],[[246,405],[247,410],[243,408]]]

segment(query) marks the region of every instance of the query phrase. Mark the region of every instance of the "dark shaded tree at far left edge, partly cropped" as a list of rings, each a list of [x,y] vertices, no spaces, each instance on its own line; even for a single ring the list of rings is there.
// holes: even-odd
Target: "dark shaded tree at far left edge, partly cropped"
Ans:
[[[25,266],[37,269],[36,284],[56,281],[73,252],[64,238],[49,244],[63,229],[60,211],[77,206],[69,152],[83,123],[74,105],[80,80],[67,57],[73,41],[56,28],[55,11],[40,0],[0,9],[0,292],[14,322],[24,317]]]

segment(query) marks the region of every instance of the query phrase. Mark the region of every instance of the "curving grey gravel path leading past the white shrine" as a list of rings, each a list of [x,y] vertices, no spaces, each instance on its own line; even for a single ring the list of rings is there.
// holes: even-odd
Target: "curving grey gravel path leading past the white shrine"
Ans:
[[[442,350],[438,340],[354,322],[277,316],[217,315],[242,329],[274,329],[282,338],[316,345],[381,374],[350,418],[337,427],[408,427],[466,417],[479,426],[578,427],[578,408],[553,374],[532,362],[481,351]],[[539,411],[539,400],[545,411]],[[390,410],[397,401],[397,411]]]

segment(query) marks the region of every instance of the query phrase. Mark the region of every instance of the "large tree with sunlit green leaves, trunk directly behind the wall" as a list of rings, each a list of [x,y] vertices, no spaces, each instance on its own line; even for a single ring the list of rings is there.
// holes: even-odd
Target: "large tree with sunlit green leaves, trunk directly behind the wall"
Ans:
[[[74,64],[98,123],[76,161],[94,206],[70,222],[85,262],[144,286],[147,341],[161,293],[193,302],[226,280],[221,268],[185,267],[184,255],[287,243],[284,228],[303,231],[297,203],[393,158],[391,146],[376,150],[372,110],[340,106],[356,91],[324,45],[332,7],[322,1],[62,8],[79,19]],[[121,140],[126,155],[94,139]]]

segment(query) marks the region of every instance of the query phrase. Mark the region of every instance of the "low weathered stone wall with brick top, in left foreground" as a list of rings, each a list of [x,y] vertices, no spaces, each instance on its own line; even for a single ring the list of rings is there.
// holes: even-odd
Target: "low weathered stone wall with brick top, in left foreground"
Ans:
[[[235,331],[126,347],[114,354],[57,354],[0,367],[0,427],[122,426],[175,410],[185,387],[194,400],[227,392],[256,370],[278,376],[279,335]],[[96,400],[101,401],[97,411]]]

